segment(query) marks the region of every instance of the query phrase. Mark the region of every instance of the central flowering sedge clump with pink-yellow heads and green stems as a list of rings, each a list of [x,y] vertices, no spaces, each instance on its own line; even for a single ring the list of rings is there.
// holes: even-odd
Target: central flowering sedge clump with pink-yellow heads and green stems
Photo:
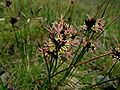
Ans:
[[[52,86],[55,86],[54,88],[56,88],[61,85],[66,85],[72,78],[77,66],[97,60],[103,56],[115,55],[112,51],[88,61],[82,60],[86,53],[90,51],[95,52],[94,43],[105,30],[103,18],[96,19],[88,16],[85,20],[85,25],[80,28],[80,31],[82,32],[81,36],[78,36],[80,32],[76,32],[75,29],[71,27],[72,26],[67,24],[62,17],[61,21],[55,22],[52,27],[47,28],[50,32],[49,39],[47,39],[48,42],[45,42],[45,46],[43,45],[42,48],[39,49],[40,52],[43,53],[43,59],[45,60],[48,73],[48,76],[46,76],[48,79],[44,83],[44,88],[51,89]],[[76,37],[78,41],[75,40],[75,43],[71,43]],[[81,41],[79,41],[80,38]],[[72,51],[69,53],[67,50],[70,51],[71,48]],[[68,55],[66,55],[66,51],[70,55],[69,58],[67,58]],[[67,59],[63,61],[63,58]],[[64,64],[66,65],[63,67]],[[59,76],[60,79],[57,76]],[[55,85],[53,83],[54,80]]]

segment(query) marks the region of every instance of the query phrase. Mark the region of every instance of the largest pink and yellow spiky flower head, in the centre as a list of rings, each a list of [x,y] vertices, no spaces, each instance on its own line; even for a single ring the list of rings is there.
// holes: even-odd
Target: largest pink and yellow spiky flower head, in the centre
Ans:
[[[73,26],[64,21],[64,17],[61,17],[58,22],[54,22],[52,27],[47,28],[47,30],[50,32],[50,37],[46,46],[41,49],[46,54],[69,54],[67,56],[70,56],[70,47],[79,44],[77,40],[78,32]]]

